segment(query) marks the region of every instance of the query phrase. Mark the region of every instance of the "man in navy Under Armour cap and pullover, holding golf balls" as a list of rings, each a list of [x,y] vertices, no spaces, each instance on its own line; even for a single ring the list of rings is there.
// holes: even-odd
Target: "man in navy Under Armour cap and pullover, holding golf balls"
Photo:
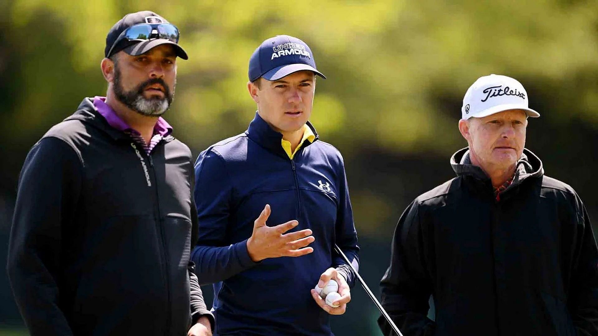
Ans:
[[[258,111],[248,130],[203,151],[195,166],[200,283],[215,283],[218,335],[331,335],[358,267],[343,158],[309,121],[316,69],[310,48],[287,35],[249,60]],[[313,290],[334,279],[337,308]],[[333,303],[334,304],[334,303]]]

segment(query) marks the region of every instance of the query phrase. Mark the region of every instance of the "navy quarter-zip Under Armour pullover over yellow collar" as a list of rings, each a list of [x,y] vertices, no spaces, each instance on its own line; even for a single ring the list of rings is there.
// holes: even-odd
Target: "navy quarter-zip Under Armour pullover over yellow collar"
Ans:
[[[358,266],[357,235],[343,158],[334,146],[306,141],[291,160],[282,135],[256,114],[249,129],[210,146],[197,158],[195,200],[199,240],[191,258],[200,283],[215,283],[218,335],[331,335],[328,313],[310,294],[321,274],[336,267],[349,286]],[[314,251],[297,258],[253,262],[246,242],[266,204],[267,225],[297,219],[309,228]]]

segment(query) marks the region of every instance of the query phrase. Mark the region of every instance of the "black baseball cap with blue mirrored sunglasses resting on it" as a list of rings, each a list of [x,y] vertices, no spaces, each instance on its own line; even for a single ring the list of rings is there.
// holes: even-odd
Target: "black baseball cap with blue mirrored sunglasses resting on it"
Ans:
[[[187,53],[185,53],[185,50],[183,50],[180,45],[178,45],[176,42],[170,41],[169,39],[152,38],[148,39],[147,41],[129,41],[127,39],[121,39],[120,41],[117,41],[118,36],[120,36],[124,30],[131,26],[138,25],[139,23],[158,24],[169,22],[152,11],[139,11],[137,13],[127,14],[123,17],[123,19],[118,20],[118,22],[112,26],[108,32],[108,35],[106,35],[104,56],[108,58],[121,50],[131,56],[139,56],[141,54],[147,53],[149,50],[151,50],[151,48],[157,47],[158,45],[172,44],[173,47],[175,47],[176,56],[181,57],[184,60],[189,58]],[[116,45],[114,45],[115,43]],[[114,48],[112,45],[114,45]]]

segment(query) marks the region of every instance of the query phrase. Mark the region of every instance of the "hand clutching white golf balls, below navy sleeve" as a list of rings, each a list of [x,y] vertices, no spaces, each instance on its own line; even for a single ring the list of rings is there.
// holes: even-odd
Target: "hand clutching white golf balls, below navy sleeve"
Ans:
[[[329,314],[344,314],[351,300],[349,285],[335,268],[328,268],[312,289],[313,300]]]

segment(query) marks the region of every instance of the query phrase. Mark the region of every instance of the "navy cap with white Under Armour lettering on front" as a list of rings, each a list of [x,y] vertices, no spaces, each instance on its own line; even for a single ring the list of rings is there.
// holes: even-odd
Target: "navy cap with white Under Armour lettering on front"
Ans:
[[[277,35],[262,42],[249,59],[249,81],[260,77],[276,81],[301,70],[310,70],[326,79],[316,70],[312,50],[298,38]]]

